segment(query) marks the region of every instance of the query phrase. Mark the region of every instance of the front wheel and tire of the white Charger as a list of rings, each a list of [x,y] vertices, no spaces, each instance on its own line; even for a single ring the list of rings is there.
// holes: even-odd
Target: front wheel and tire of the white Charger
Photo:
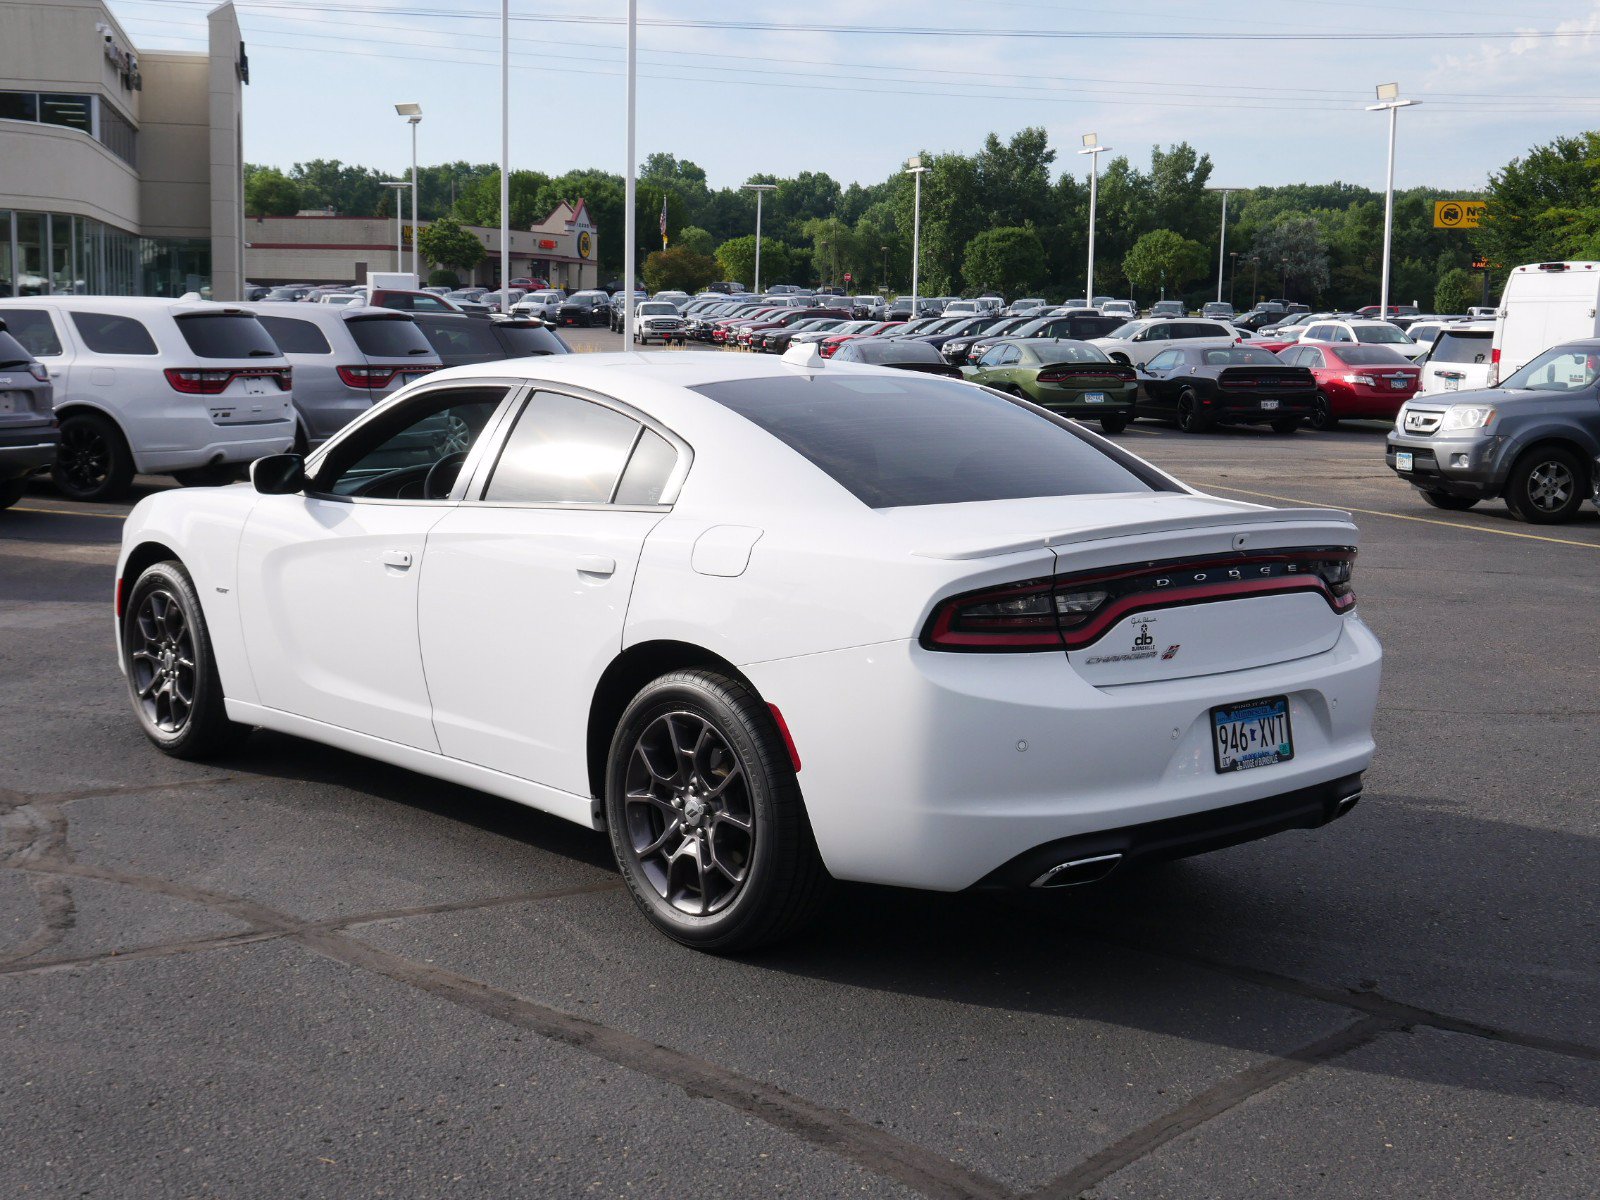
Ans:
[[[250,733],[227,718],[205,611],[181,563],[155,563],[133,584],[122,659],[139,728],[162,754],[210,758]]]

